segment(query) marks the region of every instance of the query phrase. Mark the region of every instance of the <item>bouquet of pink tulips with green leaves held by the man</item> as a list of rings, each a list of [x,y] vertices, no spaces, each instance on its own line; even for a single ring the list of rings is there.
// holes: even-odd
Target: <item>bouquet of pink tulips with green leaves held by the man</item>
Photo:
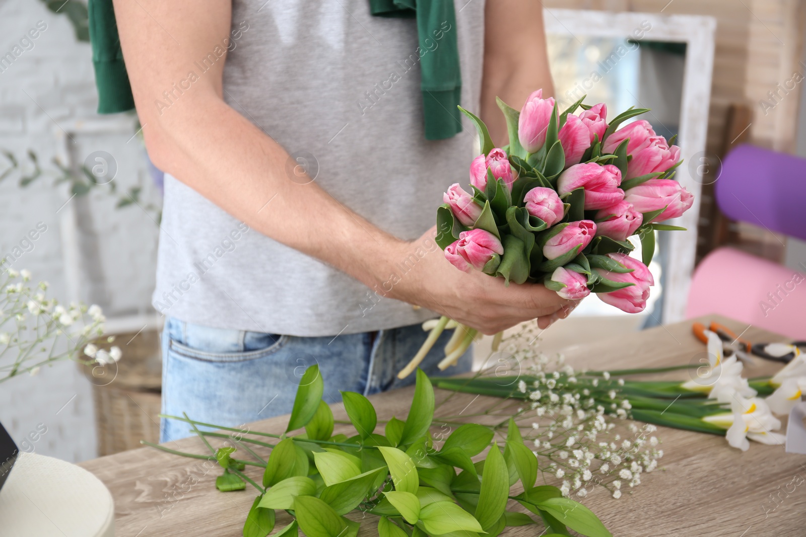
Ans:
[[[484,122],[459,107],[475,123],[483,154],[470,165],[471,191],[457,183],[445,192],[436,242],[459,270],[507,284],[542,283],[567,299],[594,292],[624,312],[642,312],[654,284],[647,268],[654,231],[684,229],[658,222],[679,217],[693,196],[671,178],[679,147],[643,120],[618,128],[649,109],[630,108],[608,122],[605,104],[588,106],[583,99],[562,113],[541,89],[520,112],[498,99],[509,131],[503,148],[493,146]],[[642,243],[641,260],[629,256],[633,235]],[[455,321],[431,324],[401,378]],[[440,369],[454,364],[477,335],[459,328]]]

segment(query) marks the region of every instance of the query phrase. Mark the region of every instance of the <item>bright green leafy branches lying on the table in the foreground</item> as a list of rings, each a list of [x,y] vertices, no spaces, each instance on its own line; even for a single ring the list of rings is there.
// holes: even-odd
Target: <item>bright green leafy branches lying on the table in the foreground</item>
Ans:
[[[507,510],[509,500],[537,515],[549,532],[546,535],[570,535],[570,529],[588,537],[611,537],[587,507],[564,498],[555,486],[536,485],[538,459],[514,421],[509,421],[500,443],[493,441],[492,428],[464,423],[438,448],[430,434],[434,389],[422,370],[417,371],[408,417],[389,419],[384,434],[375,432],[378,419],[372,403],[361,394],[342,392],[355,435],[334,435],[333,414],[323,393],[318,366],[311,366],[301,378],[285,433],[249,433],[276,438],[276,444],[246,436],[236,440],[242,448],[244,442],[270,446],[268,461],[251,449],[244,451],[257,462],[236,459],[238,448],[233,446],[214,449],[206,436],[226,435],[202,432],[197,425],[210,424],[187,416],[184,420],[210,449],[210,456],[150,445],[218,461],[223,473],[216,486],[222,492],[244,489],[244,481],[255,487],[260,494],[244,523],[245,537],[271,533],[276,510],[293,517],[276,532],[280,537],[296,536],[299,530],[307,537],[355,537],[360,524],[345,516],[355,511],[380,517],[380,537],[492,537],[506,527],[538,524],[530,514]],[[301,428],[305,432],[293,434]],[[473,461],[474,457],[480,460]],[[265,467],[260,485],[242,472],[245,465]]]

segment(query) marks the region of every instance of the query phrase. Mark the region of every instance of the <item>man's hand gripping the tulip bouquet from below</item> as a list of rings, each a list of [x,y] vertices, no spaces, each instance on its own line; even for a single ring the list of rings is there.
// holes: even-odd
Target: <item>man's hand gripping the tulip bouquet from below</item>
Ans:
[[[434,241],[435,227],[417,242],[395,248],[397,266],[420,245]],[[492,335],[525,320],[538,318],[540,328],[564,319],[577,304],[534,283],[505,287],[504,279],[479,271],[459,271],[442,251],[429,251],[391,287],[388,296],[442,313],[481,333]]]

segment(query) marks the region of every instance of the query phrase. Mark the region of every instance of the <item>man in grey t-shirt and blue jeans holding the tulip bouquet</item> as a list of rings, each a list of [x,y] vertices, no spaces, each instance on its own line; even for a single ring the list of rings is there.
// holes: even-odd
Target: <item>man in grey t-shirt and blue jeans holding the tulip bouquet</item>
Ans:
[[[551,93],[539,2],[447,1],[406,18],[372,14],[401,7],[390,0],[114,0],[147,150],[166,172],[154,295],[166,414],[231,425],[288,412],[314,363],[330,401],[402,386],[434,312],[486,334],[565,316],[545,287],[457,271],[434,244],[434,209],[467,184],[474,137],[456,132],[455,105],[421,93],[445,74],[426,63],[458,52],[459,100],[501,144],[496,95],[519,108]],[[410,18],[426,6],[446,14],[428,41],[425,14]],[[448,134],[429,131],[440,114]],[[188,434],[163,423],[162,440]]]

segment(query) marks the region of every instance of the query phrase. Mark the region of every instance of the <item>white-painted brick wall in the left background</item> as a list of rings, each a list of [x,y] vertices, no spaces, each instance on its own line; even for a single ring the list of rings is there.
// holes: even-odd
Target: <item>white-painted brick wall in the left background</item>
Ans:
[[[49,163],[56,151],[52,134],[59,128],[56,125],[93,117],[97,94],[89,43],[78,43],[68,19],[52,14],[38,0],[0,2],[0,56],[12,50],[40,20],[47,24],[47,29],[33,41],[34,47],[0,72],[0,147],[13,151],[15,155],[24,155],[28,148],[32,148],[41,162]],[[119,142],[115,143],[121,146]],[[126,151],[126,155],[120,155],[123,159],[118,160],[131,162],[141,155],[142,146],[135,138],[125,149],[118,151]],[[138,175],[140,180],[150,180],[147,175],[143,176],[142,168],[127,171],[128,180]],[[60,215],[56,214],[63,203],[63,193],[52,188],[50,178],[40,179],[25,189],[19,188],[15,176],[0,183],[0,254],[10,251],[29,229],[43,221],[48,225],[47,232],[14,266],[29,269],[35,280],[48,280],[52,295],[67,300]],[[136,207],[110,211],[112,200],[104,196],[96,196],[92,203],[106,204],[96,215],[96,221],[98,216],[113,219],[100,223],[102,235],[106,233],[104,229],[110,229],[106,234],[114,238],[114,247],[117,248],[122,242],[120,229],[126,229],[128,242],[137,249],[111,256],[107,250],[104,271],[113,276],[126,275],[131,288],[136,287],[139,294],[134,306],[131,297],[123,300],[126,303],[124,309],[142,311],[147,308],[148,291],[154,277],[152,252],[156,225]],[[143,250],[146,254],[142,254]],[[141,255],[136,255],[138,252]],[[106,266],[109,258],[118,258],[118,266]],[[132,259],[138,258],[137,271],[132,274]],[[114,283],[114,277],[112,280]],[[110,292],[120,295],[114,289]],[[21,447],[26,447],[22,444],[28,433],[35,432],[42,423],[48,432],[32,444],[36,452],[67,461],[82,461],[96,454],[89,382],[73,363],[43,370],[34,378],[25,376],[0,383],[0,421]]]

